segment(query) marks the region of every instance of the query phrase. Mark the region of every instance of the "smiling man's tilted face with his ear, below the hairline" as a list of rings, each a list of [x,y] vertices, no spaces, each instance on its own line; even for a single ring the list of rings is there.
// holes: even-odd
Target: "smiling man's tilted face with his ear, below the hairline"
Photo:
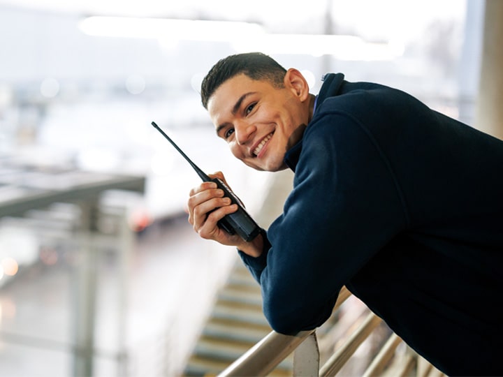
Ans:
[[[277,88],[241,74],[214,92],[208,112],[217,135],[226,140],[236,158],[256,170],[286,168],[284,155],[302,135],[294,131],[309,121],[309,88],[306,84],[307,95],[299,95],[300,80],[305,82],[298,71],[289,70],[285,87]]]

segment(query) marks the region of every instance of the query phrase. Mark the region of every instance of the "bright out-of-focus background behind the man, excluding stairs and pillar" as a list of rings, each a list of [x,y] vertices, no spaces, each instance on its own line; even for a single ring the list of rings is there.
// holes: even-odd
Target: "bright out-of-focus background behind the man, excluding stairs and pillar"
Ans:
[[[234,251],[203,242],[199,182],[156,121],[254,214],[198,95],[222,57],[408,91],[472,124],[481,0],[0,0],[0,374],[172,376]],[[124,228],[124,223],[126,227]]]

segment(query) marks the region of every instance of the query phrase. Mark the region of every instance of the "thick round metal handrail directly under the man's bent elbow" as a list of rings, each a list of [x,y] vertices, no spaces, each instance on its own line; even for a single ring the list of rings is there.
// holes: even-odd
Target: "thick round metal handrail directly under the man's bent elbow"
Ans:
[[[351,296],[349,290],[343,287],[334,306],[337,310]],[[301,331],[295,335],[284,335],[272,331],[255,346],[250,348],[238,360],[219,374],[224,376],[267,376],[278,366],[302,341],[305,341],[315,330]]]

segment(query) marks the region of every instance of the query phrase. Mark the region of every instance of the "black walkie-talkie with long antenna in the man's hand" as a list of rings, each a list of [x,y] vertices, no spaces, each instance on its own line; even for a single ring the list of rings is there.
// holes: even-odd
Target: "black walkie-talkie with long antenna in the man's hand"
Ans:
[[[230,188],[224,184],[224,182],[221,181],[219,178],[210,178],[208,175],[203,172],[198,166],[191,161],[189,157],[187,157],[186,154],[180,149],[173,140],[170,139],[164,131],[157,126],[157,124],[152,121],[152,126],[157,128],[157,131],[159,131],[168,141],[175,147],[177,151],[182,154],[182,156],[187,160],[187,162],[196,170],[196,173],[203,179],[203,182],[214,182],[217,184],[218,188],[224,191],[224,196],[227,198],[231,199],[231,202],[233,204],[238,205],[238,211],[234,212],[233,214],[228,214],[226,215],[223,219],[221,219],[218,222],[218,225],[220,228],[224,229],[228,234],[230,235],[235,235],[236,233],[240,235],[242,239],[245,239],[245,241],[249,242],[252,239],[254,239],[258,233],[261,232],[261,228],[255,223],[254,219],[251,219],[251,216],[246,212],[245,207],[242,206],[241,201],[238,199],[236,195],[231,191]]]

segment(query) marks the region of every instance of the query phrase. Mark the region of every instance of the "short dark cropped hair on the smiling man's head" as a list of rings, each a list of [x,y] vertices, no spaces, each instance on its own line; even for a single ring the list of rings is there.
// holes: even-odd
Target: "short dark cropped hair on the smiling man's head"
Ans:
[[[221,84],[235,75],[244,73],[252,80],[268,80],[275,87],[283,87],[286,69],[275,59],[261,52],[234,54],[215,64],[201,83],[201,102],[207,110],[207,103]]]

